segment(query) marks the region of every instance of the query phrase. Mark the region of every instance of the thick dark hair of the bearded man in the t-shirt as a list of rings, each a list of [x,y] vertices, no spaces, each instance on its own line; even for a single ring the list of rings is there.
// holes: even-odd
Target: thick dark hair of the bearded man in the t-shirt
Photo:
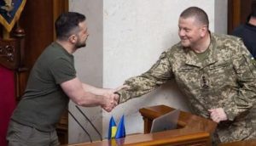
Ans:
[[[72,35],[72,31],[79,26],[79,23],[84,20],[86,20],[84,14],[76,12],[66,12],[61,14],[55,21],[57,39],[66,40]]]

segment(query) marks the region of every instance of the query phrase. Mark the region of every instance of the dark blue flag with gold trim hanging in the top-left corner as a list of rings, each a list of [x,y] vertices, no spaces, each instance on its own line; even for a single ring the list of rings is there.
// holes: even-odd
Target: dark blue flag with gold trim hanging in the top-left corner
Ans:
[[[0,23],[7,31],[11,31],[15,22],[20,19],[20,14],[25,6],[26,0],[1,0],[0,1]]]

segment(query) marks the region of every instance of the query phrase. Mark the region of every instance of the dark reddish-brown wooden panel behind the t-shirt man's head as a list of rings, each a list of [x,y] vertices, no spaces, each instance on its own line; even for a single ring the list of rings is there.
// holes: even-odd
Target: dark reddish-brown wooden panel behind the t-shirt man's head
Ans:
[[[68,0],[27,0],[20,16],[20,26],[26,32],[25,64],[32,68],[38,56],[55,40],[55,19],[68,10]]]

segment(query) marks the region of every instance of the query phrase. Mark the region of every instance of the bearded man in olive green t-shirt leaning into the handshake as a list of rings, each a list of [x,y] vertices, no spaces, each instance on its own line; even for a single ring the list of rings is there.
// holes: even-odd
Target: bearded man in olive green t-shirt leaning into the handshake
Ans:
[[[55,125],[69,99],[81,106],[117,105],[114,89],[92,87],[79,81],[73,53],[85,47],[89,36],[85,16],[68,12],[55,21],[57,40],[39,56],[30,73],[24,96],[9,123],[7,140],[15,145],[59,145]]]

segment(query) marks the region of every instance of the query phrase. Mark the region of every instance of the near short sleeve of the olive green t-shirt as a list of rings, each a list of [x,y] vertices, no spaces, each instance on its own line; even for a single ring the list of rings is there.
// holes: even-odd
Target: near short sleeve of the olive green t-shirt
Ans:
[[[72,62],[67,59],[56,59],[55,62],[50,65],[49,71],[55,79],[56,84],[72,80],[76,77],[76,70]]]

